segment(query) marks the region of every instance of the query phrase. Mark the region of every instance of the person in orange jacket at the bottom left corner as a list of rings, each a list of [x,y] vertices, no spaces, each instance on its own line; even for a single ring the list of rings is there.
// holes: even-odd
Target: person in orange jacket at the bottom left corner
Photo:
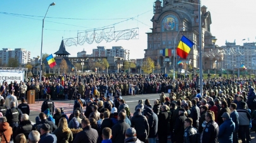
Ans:
[[[0,135],[1,135],[1,143],[10,142],[11,135],[13,134],[13,129],[10,127],[9,123],[7,122],[6,117],[0,118]],[[7,141],[6,141],[6,140]]]

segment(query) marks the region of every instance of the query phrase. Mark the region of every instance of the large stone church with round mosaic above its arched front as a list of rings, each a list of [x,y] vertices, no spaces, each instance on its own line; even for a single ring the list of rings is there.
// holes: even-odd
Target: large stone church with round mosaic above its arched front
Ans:
[[[193,67],[199,67],[198,44],[199,44],[199,23],[198,23],[198,5],[196,1],[187,0],[189,3],[182,3],[176,0],[155,1],[153,6],[154,13],[151,18],[153,28],[148,35],[148,47],[145,49],[144,57],[150,57],[160,64],[161,67],[178,67],[177,62],[190,63]],[[214,47],[212,43],[212,34],[210,25],[212,24],[210,11],[202,6],[202,49],[209,50]],[[182,28],[184,28],[182,30]],[[179,32],[180,31],[180,32]],[[188,59],[179,59],[174,51],[182,35],[189,38],[195,45],[191,47]],[[170,56],[163,56],[163,49],[171,49]],[[175,55],[175,56],[174,56]],[[176,59],[174,63],[174,58]],[[203,68],[207,69],[210,63],[203,57]],[[188,62],[189,61],[189,62]]]

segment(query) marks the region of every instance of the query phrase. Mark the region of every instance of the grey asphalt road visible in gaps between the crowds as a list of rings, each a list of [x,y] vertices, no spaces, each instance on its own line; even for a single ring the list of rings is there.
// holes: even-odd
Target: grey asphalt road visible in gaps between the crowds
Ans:
[[[128,95],[128,96],[122,96],[122,97],[125,100],[125,103],[127,105],[129,105],[131,113],[134,113],[135,106],[138,105],[139,100],[144,101],[146,99],[149,99],[151,105],[153,105],[153,101],[156,100],[157,98],[159,98],[159,94],[140,94],[140,95],[136,95],[136,96]],[[54,100],[54,102],[55,103],[56,102],[66,103],[66,106],[64,106],[64,108],[65,107],[67,108],[67,106],[69,106],[69,104],[70,104],[70,108],[72,108],[74,106],[74,100]],[[42,104],[41,104],[41,102],[37,103],[37,101],[35,101],[35,104],[33,106],[37,106],[37,108],[40,109]],[[56,107],[59,107],[59,106],[56,106]],[[38,110],[35,111],[30,108],[30,115],[29,115],[30,121],[35,122],[35,117],[37,117],[39,115],[39,113],[40,113],[40,111],[38,111]]]

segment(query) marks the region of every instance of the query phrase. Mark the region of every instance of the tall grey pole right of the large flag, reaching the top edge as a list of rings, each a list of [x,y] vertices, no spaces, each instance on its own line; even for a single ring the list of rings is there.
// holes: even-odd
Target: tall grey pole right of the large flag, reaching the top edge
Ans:
[[[200,84],[200,93],[203,95],[203,58],[202,58],[202,20],[201,20],[201,0],[198,0],[198,22],[199,22],[199,84]]]

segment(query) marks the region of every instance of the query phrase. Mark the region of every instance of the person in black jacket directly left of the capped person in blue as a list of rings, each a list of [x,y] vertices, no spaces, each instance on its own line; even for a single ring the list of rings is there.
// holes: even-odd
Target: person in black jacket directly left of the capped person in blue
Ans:
[[[207,125],[203,130],[202,142],[201,143],[217,143],[218,142],[218,134],[219,134],[219,126],[216,122],[214,122],[214,112],[208,111],[205,115],[205,121]]]

